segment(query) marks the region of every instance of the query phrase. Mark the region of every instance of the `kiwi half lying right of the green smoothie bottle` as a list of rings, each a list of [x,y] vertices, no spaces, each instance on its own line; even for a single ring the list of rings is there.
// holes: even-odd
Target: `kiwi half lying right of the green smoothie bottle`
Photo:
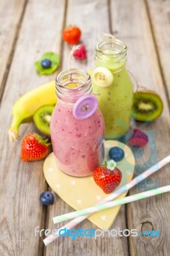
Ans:
[[[161,115],[164,105],[160,96],[150,90],[134,93],[132,116],[137,121],[150,122]]]

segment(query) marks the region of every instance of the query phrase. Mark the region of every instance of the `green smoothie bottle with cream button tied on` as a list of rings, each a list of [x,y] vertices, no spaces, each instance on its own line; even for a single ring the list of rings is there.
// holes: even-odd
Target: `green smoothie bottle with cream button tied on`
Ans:
[[[126,62],[127,45],[120,40],[108,38],[97,44],[91,80],[104,116],[106,139],[123,136],[130,126],[134,92]]]

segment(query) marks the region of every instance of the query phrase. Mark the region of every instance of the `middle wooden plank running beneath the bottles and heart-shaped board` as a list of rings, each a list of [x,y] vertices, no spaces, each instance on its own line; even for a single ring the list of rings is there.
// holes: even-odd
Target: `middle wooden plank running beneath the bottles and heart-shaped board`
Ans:
[[[109,12],[106,0],[95,1],[68,1],[66,25],[77,24],[82,30],[81,41],[87,47],[87,60],[74,60],[72,59],[72,68],[82,68],[88,70],[93,68],[95,45],[98,42],[99,32],[109,32]],[[75,17],[73,17],[75,13]],[[64,44],[63,48],[63,65],[62,69],[68,68],[68,56],[72,47],[71,45]],[[86,188],[84,188],[86,189]],[[90,198],[89,198],[90,202]],[[50,229],[62,227],[62,224],[52,226],[52,217],[62,213],[70,212],[73,209],[66,204],[63,204],[61,199],[55,202],[49,212],[49,225]],[[77,228],[81,227],[82,230],[86,228],[97,227],[92,225],[88,220],[84,220],[77,225]],[[118,214],[111,229],[125,229],[125,207],[121,207],[121,211]],[[46,255],[75,255],[75,256],[89,256],[89,255],[128,255],[127,237],[111,237],[108,238],[107,234],[104,237],[98,237],[97,240],[89,237],[77,237],[72,240],[71,237],[59,237],[57,241],[50,244],[46,248]]]

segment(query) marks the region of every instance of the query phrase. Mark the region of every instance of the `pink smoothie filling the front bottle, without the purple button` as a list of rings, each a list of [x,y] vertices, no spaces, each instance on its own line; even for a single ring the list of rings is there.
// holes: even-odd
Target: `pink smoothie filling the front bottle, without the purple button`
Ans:
[[[75,118],[73,105],[79,95],[84,95],[83,84],[79,88],[67,84],[65,90],[65,97],[58,99],[50,122],[52,148],[60,170],[69,175],[83,177],[90,175],[103,161],[104,119],[98,108],[88,118]],[[58,93],[59,97],[61,95]]]

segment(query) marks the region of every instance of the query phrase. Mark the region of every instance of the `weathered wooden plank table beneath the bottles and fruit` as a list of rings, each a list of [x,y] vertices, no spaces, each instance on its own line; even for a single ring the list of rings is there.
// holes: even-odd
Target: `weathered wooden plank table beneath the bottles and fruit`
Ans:
[[[160,118],[145,129],[155,134],[158,160],[170,152],[170,1],[169,0],[0,0],[0,96],[1,96],[1,256],[34,255],[170,255],[170,193],[123,205],[111,228],[158,230],[160,237],[59,237],[45,247],[43,237],[35,237],[36,226],[54,228],[52,216],[70,212],[57,195],[54,205],[42,207],[38,198],[50,189],[43,176],[43,161],[22,163],[20,144],[24,135],[36,131],[33,124],[20,127],[20,140],[11,145],[8,127],[12,106],[20,95],[56,77],[39,77],[34,62],[45,51],[61,56],[59,71],[68,67],[71,46],[61,31],[68,24],[82,29],[88,59],[73,61],[74,67],[94,67],[94,51],[99,32],[112,33],[128,46],[128,69],[139,84],[155,90],[164,101]],[[146,156],[144,156],[146,157]],[[146,168],[152,165],[146,161]],[[170,166],[152,175],[158,186],[170,184]],[[132,195],[137,188],[129,191]],[[58,228],[56,226],[55,228]],[[92,228],[88,220],[82,229]],[[97,227],[95,227],[97,228]]]

